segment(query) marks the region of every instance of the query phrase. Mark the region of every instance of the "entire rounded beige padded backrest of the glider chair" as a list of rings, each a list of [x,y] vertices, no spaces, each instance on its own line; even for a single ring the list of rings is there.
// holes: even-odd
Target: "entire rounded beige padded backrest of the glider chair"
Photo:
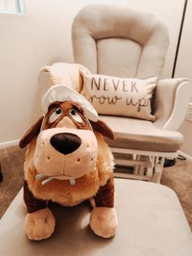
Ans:
[[[160,77],[168,50],[168,29],[153,11],[93,4],[72,24],[74,61],[92,73],[116,77]]]

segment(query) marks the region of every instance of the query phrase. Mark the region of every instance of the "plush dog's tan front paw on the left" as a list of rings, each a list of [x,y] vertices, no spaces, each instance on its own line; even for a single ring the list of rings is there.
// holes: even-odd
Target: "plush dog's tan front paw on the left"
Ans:
[[[25,232],[29,239],[46,239],[51,236],[54,230],[55,217],[48,208],[26,215]]]

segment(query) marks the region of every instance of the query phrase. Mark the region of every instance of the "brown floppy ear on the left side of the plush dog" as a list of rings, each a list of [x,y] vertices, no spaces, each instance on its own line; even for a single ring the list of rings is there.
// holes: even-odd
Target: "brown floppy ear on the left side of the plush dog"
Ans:
[[[20,148],[25,148],[28,145],[28,143],[39,134],[41,130],[42,121],[43,121],[43,116],[40,117],[33,124],[33,126],[24,134],[24,136],[20,139],[20,143],[19,143]]]

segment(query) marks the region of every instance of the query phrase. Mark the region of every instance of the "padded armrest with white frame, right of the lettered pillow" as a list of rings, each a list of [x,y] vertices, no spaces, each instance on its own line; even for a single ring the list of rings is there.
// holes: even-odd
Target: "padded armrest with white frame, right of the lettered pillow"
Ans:
[[[187,78],[159,80],[155,93],[155,125],[166,130],[177,130],[185,118],[192,83]]]

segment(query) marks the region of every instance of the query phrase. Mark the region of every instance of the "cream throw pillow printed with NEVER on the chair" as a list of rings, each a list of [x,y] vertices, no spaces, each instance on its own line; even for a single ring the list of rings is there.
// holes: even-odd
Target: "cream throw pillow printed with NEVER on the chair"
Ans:
[[[91,74],[84,68],[80,71],[83,77],[81,95],[99,114],[155,121],[151,114],[151,98],[157,84],[156,77],[122,78]]]

